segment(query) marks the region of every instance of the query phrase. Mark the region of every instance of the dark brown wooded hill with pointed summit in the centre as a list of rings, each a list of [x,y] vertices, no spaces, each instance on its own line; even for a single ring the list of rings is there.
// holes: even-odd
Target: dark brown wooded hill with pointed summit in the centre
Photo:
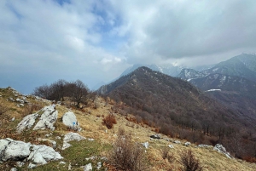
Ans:
[[[160,133],[194,143],[221,142],[237,157],[253,155],[254,120],[180,78],[140,67],[98,91],[119,103],[117,111]],[[233,148],[236,136],[244,137],[239,138],[241,151]]]

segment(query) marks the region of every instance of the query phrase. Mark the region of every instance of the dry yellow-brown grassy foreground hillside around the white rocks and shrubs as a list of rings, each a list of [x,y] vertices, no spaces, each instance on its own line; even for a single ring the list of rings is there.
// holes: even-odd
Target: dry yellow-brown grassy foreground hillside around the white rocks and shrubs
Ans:
[[[0,115],[1,117],[1,139],[11,138],[13,140],[22,140],[25,142],[30,142],[32,144],[42,144],[49,145],[49,143],[38,140],[49,139],[55,140],[57,148],[55,151],[59,151],[63,159],[58,161],[49,161],[47,164],[33,168],[33,170],[84,170],[84,165],[92,163],[92,168],[96,169],[97,162],[102,162],[102,168],[104,170],[108,165],[106,161],[101,159],[102,157],[108,157],[108,153],[112,148],[112,144],[116,139],[116,134],[119,128],[124,128],[126,132],[131,132],[131,136],[134,142],[144,143],[148,141],[149,148],[145,149],[147,151],[146,156],[148,157],[148,170],[167,170],[172,168],[172,170],[179,170],[181,164],[179,162],[180,153],[191,149],[195,153],[195,157],[200,159],[201,164],[204,166],[204,170],[255,170],[256,164],[244,162],[239,159],[230,159],[224,154],[213,150],[211,146],[199,147],[197,145],[183,145],[186,141],[180,140],[181,144],[176,144],[176,139],[166,137],[161,135],[160,140],[151,140],[150,135],[155,134],[147,125],[131,123],[122,114],[116,113],[117,124],[114,125],[112,129],[108,129],[102,125],[103,115],[108,115],[112,113],[113,105],[112,100],[102,100],[100,98],[96,99],[98,107],[92,108],[91,105],[87,105],[83,110],[76,110],[75,108],[70,108],[68,105],[57,105],[56,111],[58,111],[58,119],[55,123],[55,130],[36,130],[31,129],[24,130],[22,134],[16,133],[16,127],[23,117],[26,117],[31,112],[26,111],[28,104],[33,104],[33,106],[38,106],[38,109],[34,108],[32,113],[37,112],[44,105],[50,105],[51,101],[37,98],[34,96],[25,96],[19,94],[14,89],[11,88],[1,88],[0,89],[0,99],[1,105],[7,108],[7,111]],[[20,104],[18,101],[8,100],[9,98],[21,98],[26,97],[28,101],[25,106],[17,106]],[[6,101],[8,100],[8,101]],[[61,123],[61,116],[67,112],[73,111],[77,117],[78,122],[82,131],[79,132],[81,136],[84,136],[86,140],[72,141],[71,147],[61,150],[64,134],[70,133],[70,129],[65,127]],[[13,118],[15,117],[15,121]],[[29,134],[29,136],[27,136]],[[61,137],[61,140],[57,138]],[[90,138],[90,139],[89,139]],[[93,140],[92,140],[93,139]],[[175,141],[176,140],[176,141]],[[172,145],[174,148],[170,148],[169,154],[172,155],[172,160],[166,160],[162,157],[162,149],[167,147],[167,145]],[[50,145],[49,145],[50,146]],[[143,147],[143,145],[142,145]],[[169,147],[168,147],[169,148]],[[87,158],[87,159],[86,159]],[[211,160],[209,160],[211,158]],[[18,160],[19,162],[19,160]],[[27,170],[28,162],[25,162],[23,166],[18,166],[18,162],[8,161],[2,162],[0,165],[1,170],[10,170],[10,168],[17,168],[18,170]],[[22,161],[21,161],[22,162]],[[110,168],[108,170],[111,170]]]

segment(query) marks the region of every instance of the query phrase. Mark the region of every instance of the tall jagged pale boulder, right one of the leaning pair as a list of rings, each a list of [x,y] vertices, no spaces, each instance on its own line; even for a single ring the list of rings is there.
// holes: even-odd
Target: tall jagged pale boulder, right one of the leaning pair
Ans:
[[[54,124],[58,118],[58,111],[55,111],[55,108],[52,105],[44,107],[41,111],[44,111],[44,113],[39,118],[39,121],[33,130],[46,128],[49,128],[52,131],[55,130]]]

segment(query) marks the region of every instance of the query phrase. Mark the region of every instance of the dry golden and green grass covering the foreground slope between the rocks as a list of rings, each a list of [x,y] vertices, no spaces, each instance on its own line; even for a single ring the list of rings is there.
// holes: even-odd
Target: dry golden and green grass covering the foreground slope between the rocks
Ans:
[[[11,92],[3,91],[0,89],[0,101],[3,101],[4,105],[7,105],[9,111],[0,116],[1,118],[1,133],[6,131],[7,134],[1,134],[2,138],[9,136],[14,140],[25,140],[30,141],[36,144],[42,144],[42,142],[38,142],[36,138],[42,137],[45,138],[45,134],[49,134],[49,130],[42,130],[37,132],[32,132],[31,130],[26,131],[24,134],[15,134],[15,127],[20,122],[21,118],[26,115],[26,107],[20,108],[16,106],[15,102],[6,101],[9,96],[12,95]],[[38,100],[30,100],[34,103],[39,103]],[[40,102],[42,105],[49,105],[49,102]],[[177,145],[166,140],[149,140],[149,135],[155,134],[151,131],[151,128],[147,126],[137,125],[135,123],[130,123],[125,119],[125,117],[117,114],[117,124],[114,125],[113,129],[108,129],[105,126],[102,126],[102,118],[99,116],[107,116],[109,112],[113,112],[111,110],[112,105],[105,106],[105,102],[103,100],[98,101],[99,107],[97,109],[92,109],[90,107],[84,108],[83,111],[77,111],[73,109],[73,112],[76,114],[78,121],[80,123],[83,131],[79,134],[83,135],[85,138],[93,138],[95,141],[82,140],[79,142],[73,142],[72,147],[68,148],[65,151],[61,151],[61,140],[57,141],[56,151],[61,152],[61,156],[64,157],[62,161],[66,162],[66,164],[60,164],[60,161],[49,162],[47,165],[40,166],[35,168],[34,170],[67,170],[69,163],[72,165],[72,170],[83,170],[81,166],[84,166],[88,162],[92,162],[93,166],[96,167],[96,162],[101,161],[100,159],[96,159],[93,161],[85,160],[86,157],[105,157],[108,156],[108,151],[111,150],[111,145],[116,138],[116,134],[119,128],[125,128],[127,132],[131,132],[133,140],[135,142],[149,142],[149,149],[147,150],[148,162],[150,163],[150,170],[167,170],[167,168],[173,168],[173,170],[178,170],[181,166],[178,162],[179,154],[183,150],[191,149],[195,153],[195,157],[199,158],[202,165],[205,167],[204,170],[256,170],[255,163],[244,162],[237,159],[229,159],[224,155],[218,153],[217,151],[212,151],[212,149],[202,149],[195,148],[195,145],[191,145],[190,147],[186,147],[184,145]],[[59,117],[61,117],[68,109],[66,106],[57,106],[57,110],[59,111]],[[27,113],[29,114],[29,113]],[[15,122],[9,122],[9,119],[12,117],[16,117]],[[49,137],[51,140],[55,140],[55,136],[61,136],[63,138],[63,134],[68,132],[67,128],[61,123],[60,119],[58,119],[55,124],[56,129],[52,132],[52,136]],[[9,129],[9,130],[5,130]],[[107,130],[107,132],[106,132]],[[29,135],[29,136],[28,136]],[[166,137],[167,138],[167,137]],[[185,141],[182,141],[183,143]],[[162,159],[161,157],[161,149],[166,145],[174,145],[174,149],[170,150],[170,153],[173,154],[173,161],[168,162],[167,160]],[[101,161],[103,162],[103,161]],[[15,162],[8,162],[9,167],[6,164],[1,163],[1,170],[9,170]],[[17,167],[16,167],[17,168]],[[27,170],[27,165],[18,168],[19,170]]]

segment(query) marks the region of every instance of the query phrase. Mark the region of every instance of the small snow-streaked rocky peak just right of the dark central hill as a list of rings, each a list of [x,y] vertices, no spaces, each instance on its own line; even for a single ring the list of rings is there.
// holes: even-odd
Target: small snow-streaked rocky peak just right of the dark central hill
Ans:
[[[182,69],[182,71],[180,71],[180,73],[177,75],[177,77],[180,77],[183,80],[187,80],[187,81],[191,79],[199,78],[199,77],[206,77],[206,76],[207,76],[206,74],[200,71],[195,71],[189,68]]]

